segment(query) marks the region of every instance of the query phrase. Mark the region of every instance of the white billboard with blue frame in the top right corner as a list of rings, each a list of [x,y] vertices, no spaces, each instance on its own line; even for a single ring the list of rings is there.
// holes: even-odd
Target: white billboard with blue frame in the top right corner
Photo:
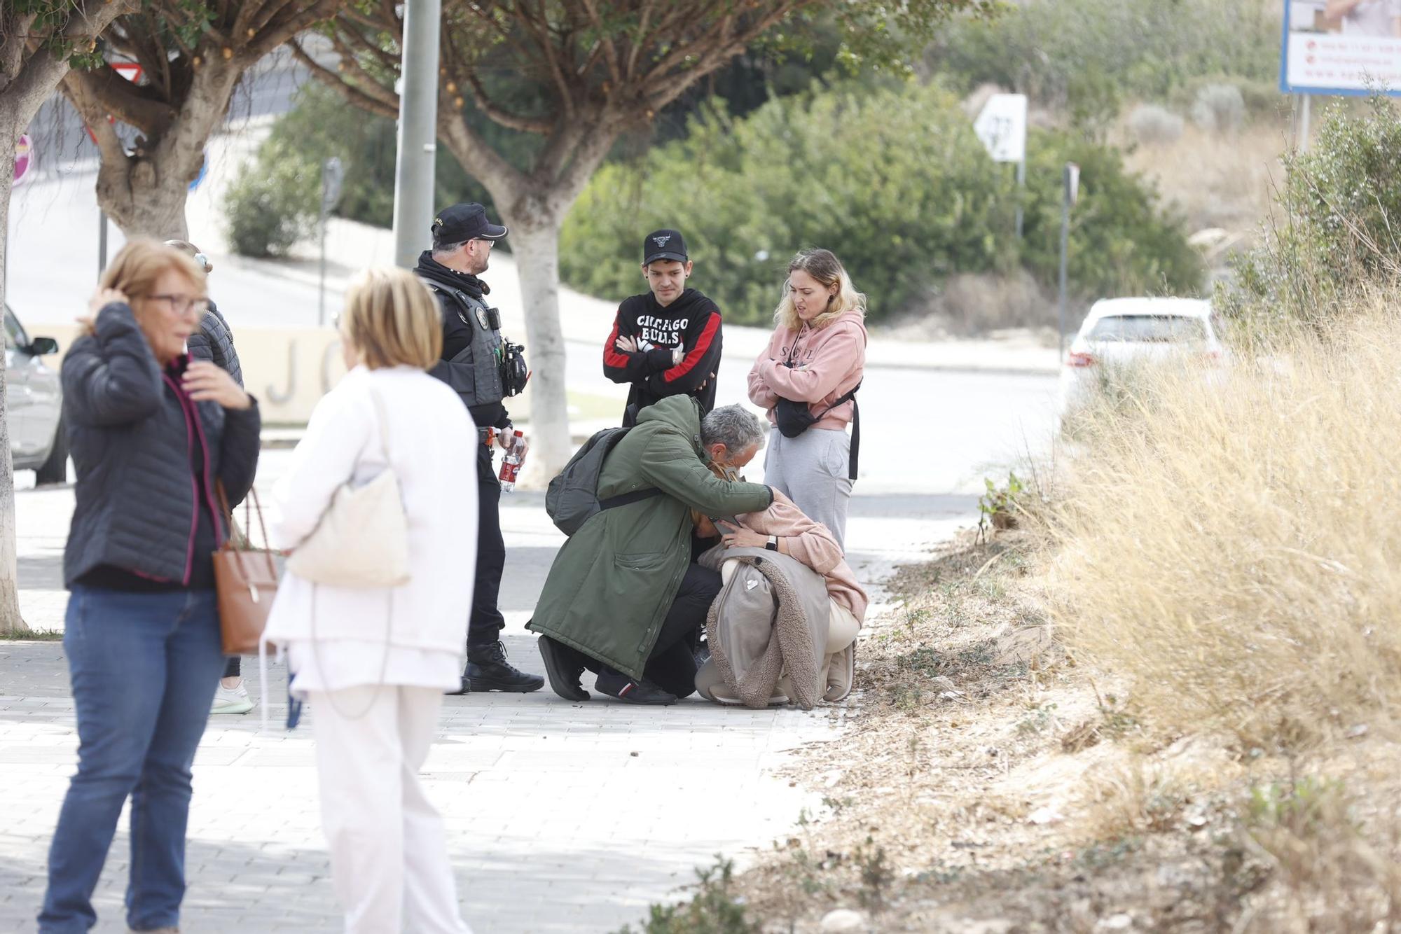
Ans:
[[[1401,95],[1401,0],[1285,0],[1279,90]]]

